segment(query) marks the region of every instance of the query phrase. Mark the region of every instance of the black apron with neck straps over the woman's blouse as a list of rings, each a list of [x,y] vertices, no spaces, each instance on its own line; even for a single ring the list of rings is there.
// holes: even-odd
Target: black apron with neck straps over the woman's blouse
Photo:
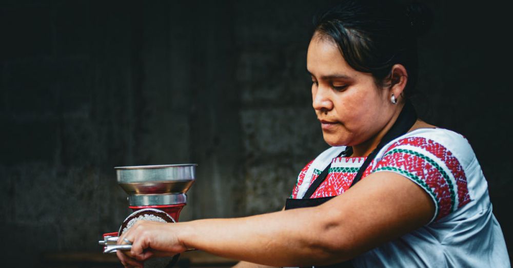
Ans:
[[[381,142],[378,144],[378,146],[369,154],[367,159],[365,159],[365,162],[363,162],[362,166],[358,170],[358,173],[356,176],[354,176],[354,179],[351,183],[351,186],[353,186],[355,183],[360,181],[362,178],[362,175],[365,171],[365,169],[369,166],[370,162],[376,157],[378,152],[390,141],[404,135],[408,130],[415,124],[417,121],[417,113],[415,112],[415,109],[411,105],[409,101],[406,101],[401,113],[399,114],[399,117],[397,118],[396,122],[393,124],[393,126],[388,130],[388,132],[385,134]],[[348,147],[346,150],[341,152],[341,154],[338,157],[344,156],[349,157],[352,155],[352,148]],[[287,199],[285,203],[285,210],[287,209],[293,209],[293,208],[302,208],[302,207],[312,207],[312,206],[318,206],[323,204],[324,202],[330,200],[333,198],[333,196],[330,197],[323,197],[323,198],[310,198],[312,194],[317,190],[317,188],[324,182],[326,177],[328,176],[329,168],[331,167],[331,162],[329,165],[322,171],[321,175],[313,183],[310,185],[308,190],[306,191],[305,195],[302,199]],[[351,261],[345,261],[342,263],[337,264],[331,264],[327,266],[314,266],[318,268],[328,268],[328,267],[352,267]]]

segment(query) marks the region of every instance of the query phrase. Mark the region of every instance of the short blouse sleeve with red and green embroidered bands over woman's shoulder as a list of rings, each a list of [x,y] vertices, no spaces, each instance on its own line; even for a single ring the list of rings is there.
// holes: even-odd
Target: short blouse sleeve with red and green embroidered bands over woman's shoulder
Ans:
[[[476,156],[465,137],[443,128],[410,131],[380,150],[377,160],[373,172],[399,173],[426,190],[435,202],[432,220],[439,220],[470,202],[467,178],[481,174],[472,164],[476,163]],[[485,183],[479,181],[479,185]]]

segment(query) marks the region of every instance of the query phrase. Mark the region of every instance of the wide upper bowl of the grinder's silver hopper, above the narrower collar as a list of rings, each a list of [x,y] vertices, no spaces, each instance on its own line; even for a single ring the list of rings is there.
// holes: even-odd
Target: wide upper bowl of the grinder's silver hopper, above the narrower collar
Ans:
[[[117,183],[129,196],[185,194],[198,164],[114,167]]]

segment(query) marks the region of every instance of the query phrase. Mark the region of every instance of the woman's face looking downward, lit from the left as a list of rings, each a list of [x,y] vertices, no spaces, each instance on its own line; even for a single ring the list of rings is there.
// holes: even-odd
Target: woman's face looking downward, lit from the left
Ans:
[[[351,68],[337,45],[314,35],[308,46],[312,101],[324,140],[331,146],[361,144],[391,120],[389,89],[379,88],[370,73]]]

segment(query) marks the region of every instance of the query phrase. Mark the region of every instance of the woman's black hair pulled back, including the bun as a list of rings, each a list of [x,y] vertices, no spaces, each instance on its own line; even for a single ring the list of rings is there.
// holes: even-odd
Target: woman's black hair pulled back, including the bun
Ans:
[[[405,97],[418,76],[417,37],[427,32],[432,13],[423,4],[347,0],[314,17],[314,35],[329,37],[353,69],[371,73],[379,86],[394,64],[408,72]]]

